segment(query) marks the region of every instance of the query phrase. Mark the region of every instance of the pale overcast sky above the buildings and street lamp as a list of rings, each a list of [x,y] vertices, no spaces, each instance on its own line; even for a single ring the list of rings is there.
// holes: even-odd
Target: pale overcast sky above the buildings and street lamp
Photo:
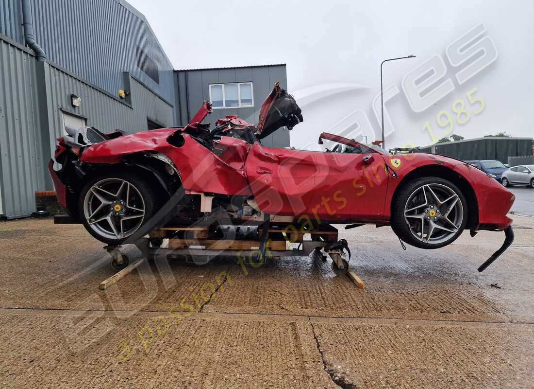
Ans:
[[[410,110],[401,89],[389,103],[397,130],[387,138],[389,146],[400,146],[408,139],[421,146],[431,143],[423,123],[428,120],[439,129],[436,113],[448,106],[452,115],[451,104],[457,98],[465,100],[473,87],[485,99],[485,109],[467,123],[456,124],[452,133],[475,138],[499,131],[515,136],[532,136],[534,132],[530,113],[534,87],[531,1],[496,5],[482,0],[129,3],[145,14],[177,69],[286,63],[290,93],[327,83],[368,87],[311,104],[306,107],[308,115],[303,109],[305,123],[292,132],[292,143],[297,146],[307,138],[302,134],[304,127],[318,133],[355,109],[365,112],[378,133],[380,123],[371,103],[380,93],[381,61],[417,55],[388,63],[384,67],[384,88],[396,83],[401,89],[404,75],[435,54],[444,58],[447,75],[454,81],[445,48],[483,22],[486,35],[491,36],[498,50],[498,59],[473,80],[457,85],[435,108],[417,115]],[[437,129],[436,136],[445,134]]]

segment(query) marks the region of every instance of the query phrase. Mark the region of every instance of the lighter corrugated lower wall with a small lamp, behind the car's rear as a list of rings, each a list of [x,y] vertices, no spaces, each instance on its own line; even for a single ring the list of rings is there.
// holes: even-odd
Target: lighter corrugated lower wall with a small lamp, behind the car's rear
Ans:
[[[51,91],[49,109],[52,110],[54,140],[62,136],[62,111],[87,118],[88,126],[95,126],[100,131],[111,132],[120,129],[126,133],[135,133],[147,129],[147,117],[164,126],[172,126],[174,112],[172,106],[130,77],[131,107],[104,91],[98,90],[87,82],[73,77],[52,65],[48,66]],[[82,98],[82,104],[74,108],[70,104],[70,94]]]

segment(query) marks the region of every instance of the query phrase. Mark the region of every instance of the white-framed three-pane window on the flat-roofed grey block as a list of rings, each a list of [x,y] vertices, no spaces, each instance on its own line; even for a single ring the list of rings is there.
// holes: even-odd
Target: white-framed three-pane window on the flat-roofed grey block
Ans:
[[[252,82],[210,84],[209,101],[213,108],[242,108],[254,106]]]

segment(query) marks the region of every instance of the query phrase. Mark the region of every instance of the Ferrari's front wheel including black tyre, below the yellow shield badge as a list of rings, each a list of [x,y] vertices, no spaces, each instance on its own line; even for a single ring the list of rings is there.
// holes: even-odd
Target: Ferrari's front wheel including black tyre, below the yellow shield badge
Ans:
[[[409,245],[435,249],[456,240],[467,223],[467,202],[451,181],[424,177],[407,182],[393,199],[391,227]]]

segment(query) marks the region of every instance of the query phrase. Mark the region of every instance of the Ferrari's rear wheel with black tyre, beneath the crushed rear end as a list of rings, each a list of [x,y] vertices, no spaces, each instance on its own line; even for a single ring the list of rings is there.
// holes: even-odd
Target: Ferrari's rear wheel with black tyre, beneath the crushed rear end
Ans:
[[[109,172],[83,187],[80,220],[99,241],[120,245],[154,215],[155,199],[150,184],[135,173]]]

